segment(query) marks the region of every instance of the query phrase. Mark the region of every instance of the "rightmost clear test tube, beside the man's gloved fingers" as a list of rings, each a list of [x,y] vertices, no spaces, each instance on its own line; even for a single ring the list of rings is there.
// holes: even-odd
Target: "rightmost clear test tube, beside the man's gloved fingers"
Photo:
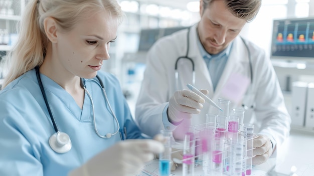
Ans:
[[[251,175],[252,173],[253,130],[254,130],[253,124],[250,124],[250,123],[243,124],[243,132],[244,132],[245,138],[247,139],[246,175]]]

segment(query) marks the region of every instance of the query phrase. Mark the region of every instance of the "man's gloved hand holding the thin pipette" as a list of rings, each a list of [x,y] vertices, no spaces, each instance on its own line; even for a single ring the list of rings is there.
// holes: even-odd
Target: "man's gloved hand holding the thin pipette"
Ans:
[[[207,90],[201,90],[208,94]],[[172,123],[178,123],[183,118],[191,118],[192,114],[199,114],[205,103],[204,98],[190,90],[178,90],[169,100],[168,118]]]

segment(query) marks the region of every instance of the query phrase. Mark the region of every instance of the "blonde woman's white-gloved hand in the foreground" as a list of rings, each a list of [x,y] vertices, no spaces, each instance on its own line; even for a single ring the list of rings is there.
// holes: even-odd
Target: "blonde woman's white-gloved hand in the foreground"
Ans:
[[[128,139],[97,154],[69,176],[134,175],[144,163],[154,159],[154,153],[164,151],[160,141],[152,139]]]

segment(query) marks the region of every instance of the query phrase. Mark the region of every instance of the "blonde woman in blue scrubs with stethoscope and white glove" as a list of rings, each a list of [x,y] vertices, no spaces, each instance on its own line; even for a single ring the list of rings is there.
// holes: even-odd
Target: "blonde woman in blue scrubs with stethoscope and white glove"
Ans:
[[[135,139],[118,80],[100,71],[122,15],[116,0],[28,2],[0,92],[0,175],[130,175],[163,151]]]

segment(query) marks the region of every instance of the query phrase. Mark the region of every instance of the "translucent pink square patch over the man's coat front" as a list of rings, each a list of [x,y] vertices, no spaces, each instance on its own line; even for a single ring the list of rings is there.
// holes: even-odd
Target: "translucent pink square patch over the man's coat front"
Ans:
[[[223,87],[221,94],[224,98],[238,104],[242,100],[249,84],[250,80],[248,77],[233,73]]]

